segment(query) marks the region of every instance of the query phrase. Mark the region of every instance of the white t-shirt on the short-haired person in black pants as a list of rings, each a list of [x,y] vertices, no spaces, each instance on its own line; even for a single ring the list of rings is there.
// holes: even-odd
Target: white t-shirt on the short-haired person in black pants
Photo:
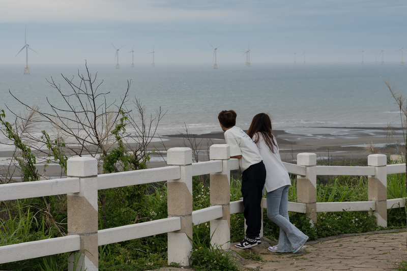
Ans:
[[[239,165],[242,171],[248,169],[251,165],[261,162],[261,156],[256,144],[251,140],[242,129],[232,127],[225,132],[226,144],[230,146],[230,156],[241,155]]]

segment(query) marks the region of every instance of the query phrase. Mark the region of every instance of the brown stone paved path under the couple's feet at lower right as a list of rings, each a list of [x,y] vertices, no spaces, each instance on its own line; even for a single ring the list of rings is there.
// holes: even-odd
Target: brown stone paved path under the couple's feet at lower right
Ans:
[[[271,253],[267,242],[251,252],[263,257],[263,262],[246,260],[246,270],[353,270],[383,271],[396,269],[400,260],[407,261],[407,232],[383,231],[362,235],[342,235],[307,242],[299,254]],[[271,245],[275,245],[271,242]],[[234,244],[232,244],[234,246]],[[185,270],[167,267],[160,270]]]

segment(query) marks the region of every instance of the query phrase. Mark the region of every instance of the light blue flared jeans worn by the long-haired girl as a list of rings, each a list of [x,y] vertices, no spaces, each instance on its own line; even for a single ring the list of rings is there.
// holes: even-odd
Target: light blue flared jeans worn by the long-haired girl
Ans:
[[[307,235],[289,222],[288,188],[289,186],[284,186],[267,193],[267,216],[280,226],[278,252],[292,252],[307,238]]]

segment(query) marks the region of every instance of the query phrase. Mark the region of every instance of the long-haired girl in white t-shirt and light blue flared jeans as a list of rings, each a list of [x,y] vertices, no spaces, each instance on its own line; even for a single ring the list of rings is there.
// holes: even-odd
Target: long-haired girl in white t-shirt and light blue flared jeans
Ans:
[[[256,143],[266,166],[267,216],[280,226],[278,245],[269,247],[269,251],[298,253],[307,242],[308,236],[289,222],[288,188],[291,183],[271,130],[270,116],[260,113],[253,117],[247,132]]]

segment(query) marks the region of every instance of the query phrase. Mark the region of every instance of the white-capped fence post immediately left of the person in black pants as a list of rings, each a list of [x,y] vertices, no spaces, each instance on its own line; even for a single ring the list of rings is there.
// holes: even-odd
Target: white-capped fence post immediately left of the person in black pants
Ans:
[[[223,250],[230,249],[230,147],[227,144],[216,144],[209,148],[211,161],[222,161],[222,172],[211,174],[211,206],[220,205],[223,217],[211,220],[211,244]]]

